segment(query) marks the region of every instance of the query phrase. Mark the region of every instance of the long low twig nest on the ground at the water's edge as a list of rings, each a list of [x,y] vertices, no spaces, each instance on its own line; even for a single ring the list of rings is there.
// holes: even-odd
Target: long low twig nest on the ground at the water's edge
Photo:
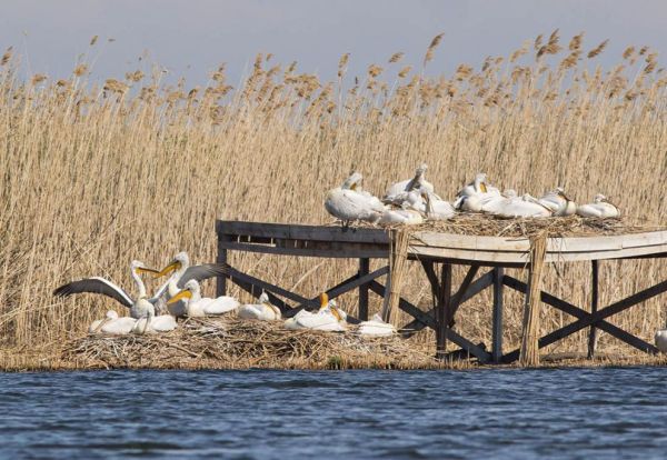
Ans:
[[[67,343],[62,359],[83,369],[429,369],[432,354],[399,337],[287,330],[281,321],[188,319],[172,332],[90,334]]]

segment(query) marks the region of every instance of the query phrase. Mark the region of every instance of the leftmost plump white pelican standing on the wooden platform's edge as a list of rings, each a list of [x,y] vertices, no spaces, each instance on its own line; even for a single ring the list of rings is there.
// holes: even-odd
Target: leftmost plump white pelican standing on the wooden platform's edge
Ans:
[[[361,174],[355,172],[341,187],[327,192],[325,208],[331,216],[340,219],[345,228],[358,220],[377,222],[385,212],[378,198],[356,190],[360,181]]]

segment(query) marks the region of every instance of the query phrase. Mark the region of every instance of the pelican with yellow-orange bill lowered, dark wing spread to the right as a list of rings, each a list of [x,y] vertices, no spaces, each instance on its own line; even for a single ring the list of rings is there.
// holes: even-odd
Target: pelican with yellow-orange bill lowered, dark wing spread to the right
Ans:
[[[171,277],[169,277],[167,282],[160,287],[158,292],[156,292],[156,297],[163,297],[165,300],[169,300],[183,289],[189,280],[199,282],[223,274],[225,271],[226,267],[220,263],[203,263],[201,266],[190,267],[188,253],[181,251],[176,254],[162,270],[155,274],[155,277],[158,278],[171,272]],[[167,310],[175,317],[183,317],[187,314],[186,303],[186,300],[168,303]]]

